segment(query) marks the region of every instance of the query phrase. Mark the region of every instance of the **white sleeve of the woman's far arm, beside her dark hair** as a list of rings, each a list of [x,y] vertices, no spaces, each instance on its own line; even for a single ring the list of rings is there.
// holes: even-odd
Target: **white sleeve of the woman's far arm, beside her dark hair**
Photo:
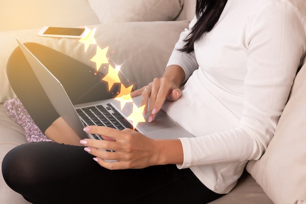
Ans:
[[[184,52],[178,51],[178,49],[182,48],[185,45],[184,40],[190,34],[192,27],[197,22],[197,18],[194,19],[189,24],[189,28],[185,29],[180,34],[178,42],[175,44],[175,48],[169,58],[167,67],[170,65],[179,65],[185,71],[185,81],[190,77],[194,70],[198,68],[197,60],[195,58],[194,52],[190,54],[186,54]]]

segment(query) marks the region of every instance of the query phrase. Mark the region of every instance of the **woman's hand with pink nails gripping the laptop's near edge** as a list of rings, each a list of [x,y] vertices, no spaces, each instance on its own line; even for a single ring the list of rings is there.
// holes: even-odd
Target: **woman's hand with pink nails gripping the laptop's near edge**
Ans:
[[[87,146],[85,151],[95,156],[94,160],[107,169],[136,169],[158,164],[157,140],[131,129],[119,131],[102,126],[88,126],[84,131],[103,137],[104,140],[84,139],[80,143]]]

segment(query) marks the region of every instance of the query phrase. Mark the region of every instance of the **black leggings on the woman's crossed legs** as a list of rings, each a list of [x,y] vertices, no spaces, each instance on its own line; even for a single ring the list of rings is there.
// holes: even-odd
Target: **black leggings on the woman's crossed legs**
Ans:
[[[73,103],[112,97],[102,94],[107,87],[93,68],[43,45],[26,45],[63,83]],[[11,55],[7,72],[13,90],[44,131],[59,115],[19,48]],[[161,165],[108,170],[92,158],[80,146],[28,143],[4,157],[2,174],[13,190],[33,204],[205,204],[221,196],[190,169]]]

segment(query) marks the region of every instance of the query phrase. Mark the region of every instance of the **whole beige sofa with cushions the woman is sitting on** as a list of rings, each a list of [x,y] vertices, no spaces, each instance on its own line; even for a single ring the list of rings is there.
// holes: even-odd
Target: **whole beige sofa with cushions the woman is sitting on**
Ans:
[[[110,3],[109,3],[110,2]],[[132,2],[132,3],[131,3]],[[96,45],[85,52],[74,39],[37,37],[44,25],[97,28],[100,47],[122,64],[123,81],[136,88],[159,77],[179,37],[194,15],[194,0],[11,0],[0,2],[0,160],[26,143],[22,127],[5,113],[3,103],[16,95],[6,77],[6,62],[22,42],[50,46],[94,67]],[[3,21],[4,20],[4,21]],[[250,161],[237,186],[211,204],[306,203],[306,68],[295,80],[291,98],[267,152]],[[24,85],[26,86],[26,85]],[[0,204],[27,204],[0,176]]]

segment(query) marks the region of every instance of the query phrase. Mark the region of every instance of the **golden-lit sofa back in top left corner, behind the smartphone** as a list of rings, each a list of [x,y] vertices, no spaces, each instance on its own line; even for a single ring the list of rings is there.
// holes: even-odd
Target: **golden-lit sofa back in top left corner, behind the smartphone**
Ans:
[[[99,23],[87,0],[1,0],[0,19],[0,31]]]

